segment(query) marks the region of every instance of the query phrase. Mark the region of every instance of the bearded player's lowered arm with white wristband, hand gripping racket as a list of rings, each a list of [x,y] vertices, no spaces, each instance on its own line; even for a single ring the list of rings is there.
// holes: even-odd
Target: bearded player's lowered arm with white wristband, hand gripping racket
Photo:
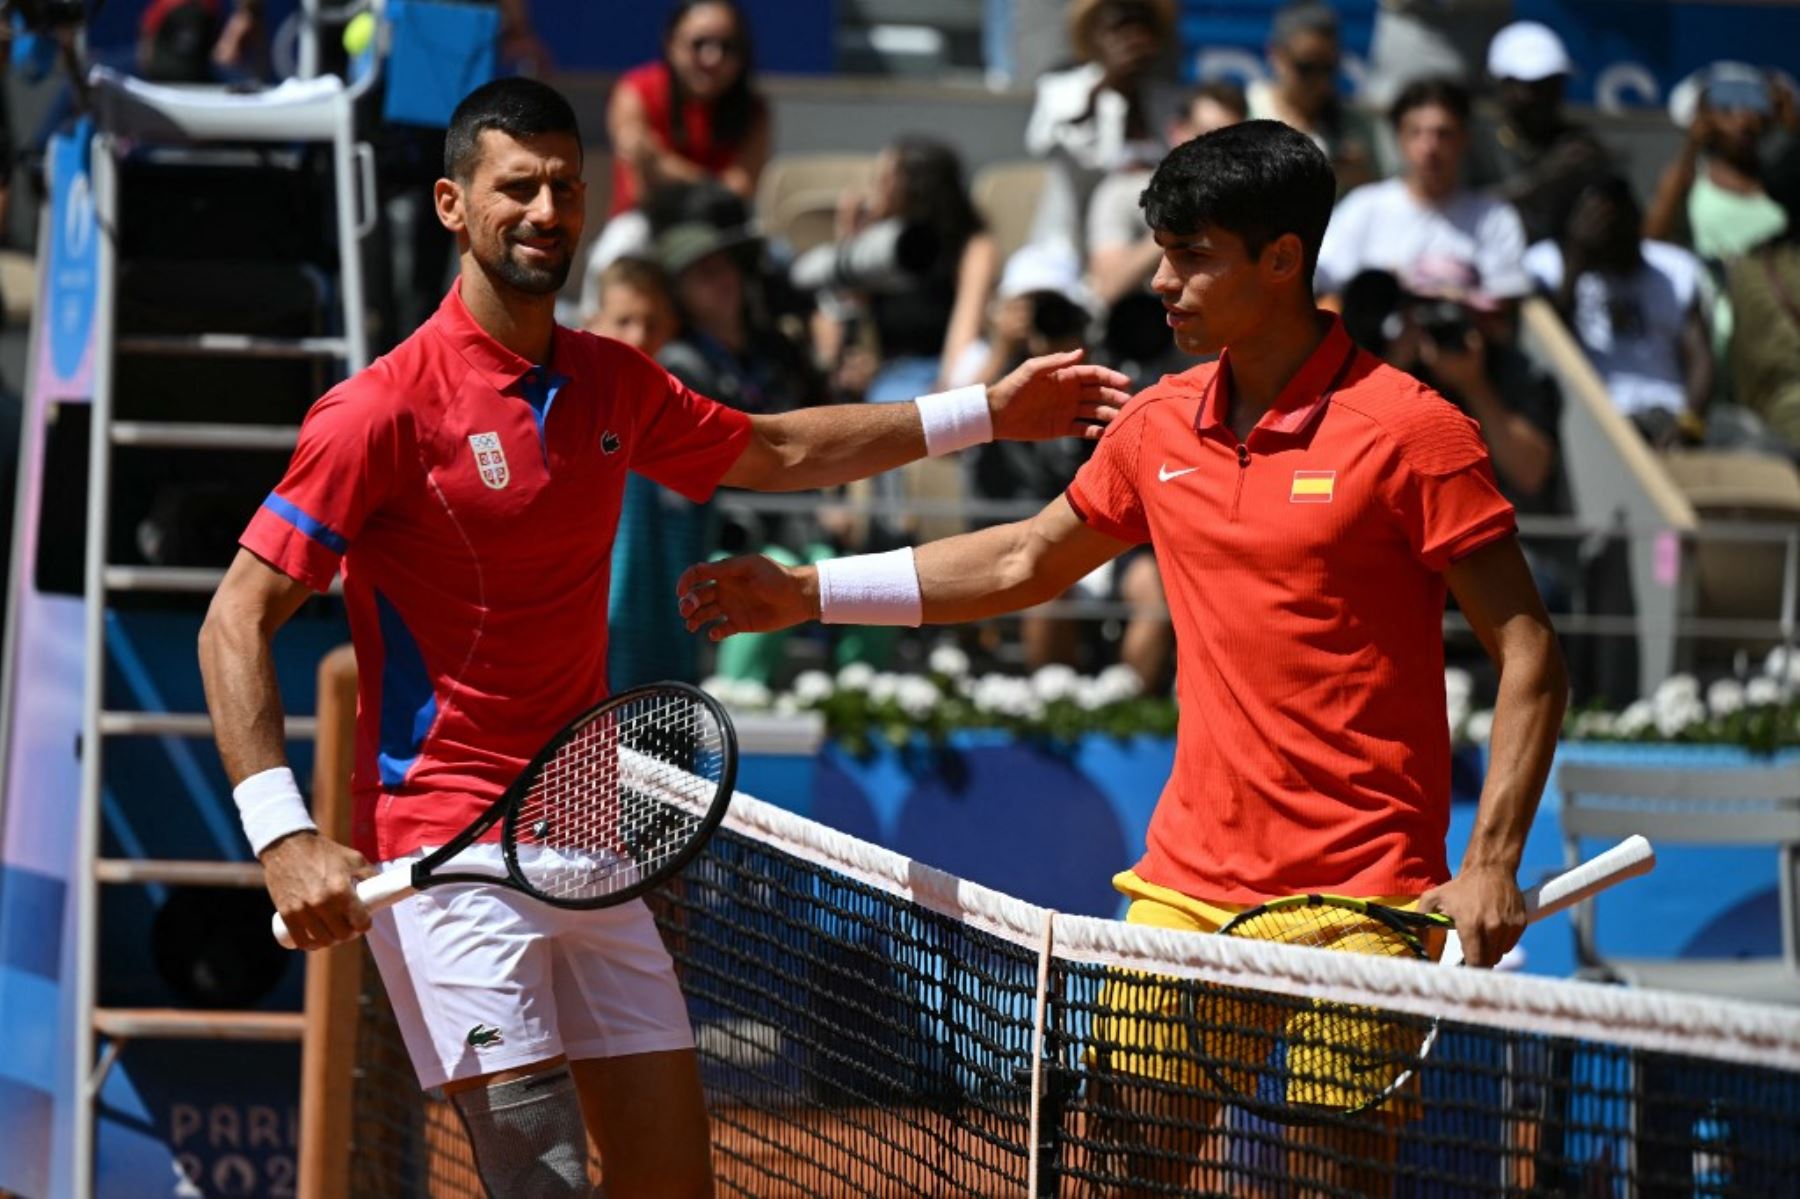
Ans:
[[[288,771],[284,717],[270,641],[311,592],[239,549],[200,627],[200,677],[212,736],[268,897],[301,949],[324,949],[369,927],[356,880],[360,853],[320,837]]]

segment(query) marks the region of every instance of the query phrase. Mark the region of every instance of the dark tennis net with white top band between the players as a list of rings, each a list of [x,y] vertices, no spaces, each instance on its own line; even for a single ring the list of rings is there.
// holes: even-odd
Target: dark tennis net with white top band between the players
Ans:
[[[1066,916],[745,796],[652,904],[725,1195],[1800,1195],[1787,1010]],[[356,1194],[479,1194],[409,1084]]]

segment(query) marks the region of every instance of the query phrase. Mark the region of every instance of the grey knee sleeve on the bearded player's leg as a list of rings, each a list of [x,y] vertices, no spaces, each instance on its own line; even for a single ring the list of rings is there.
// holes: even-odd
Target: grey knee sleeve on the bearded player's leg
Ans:
[[[454,1096],[490,1199],[589,1199],[587,1127],[567,1066]]]

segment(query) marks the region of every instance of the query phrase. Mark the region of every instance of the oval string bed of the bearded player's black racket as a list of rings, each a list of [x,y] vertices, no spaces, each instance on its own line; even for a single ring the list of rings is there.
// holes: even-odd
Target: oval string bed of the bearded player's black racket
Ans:
[[[574,902],[637,884],[688,848],[724,760],[716,717],[680,693],[599,713],[551,754],[520,803],[520,873],[538,893]]]

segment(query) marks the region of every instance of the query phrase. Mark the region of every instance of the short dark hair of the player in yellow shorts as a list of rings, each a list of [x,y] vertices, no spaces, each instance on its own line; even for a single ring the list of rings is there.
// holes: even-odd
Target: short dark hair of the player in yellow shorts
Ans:
[[[1186,236],[1211,225],[1240,238],[1251,257],[1294,234],[1312,286],[1336,198],[1337,175],[1310,137],[1280,121],[1244,121],[1168,151],[1139,203],[1150,229]]]

